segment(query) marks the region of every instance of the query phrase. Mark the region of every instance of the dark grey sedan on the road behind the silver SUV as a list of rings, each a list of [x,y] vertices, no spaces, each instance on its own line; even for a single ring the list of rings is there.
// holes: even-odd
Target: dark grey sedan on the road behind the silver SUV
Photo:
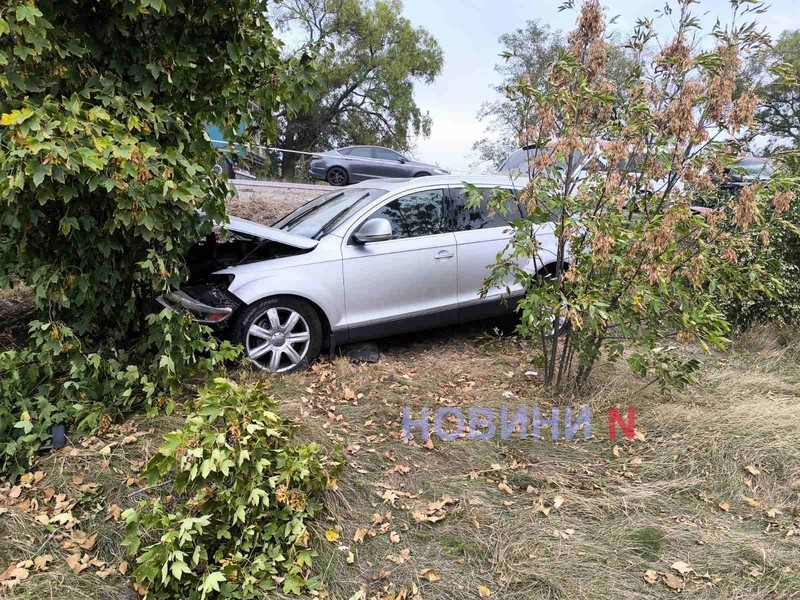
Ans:
[[[408,178],[446,175],[447,171],[406,158],[399,152],[381,146],[348,146],[314,154],[308,174],[311,179],[331,185],[347,185],[383,177]]]

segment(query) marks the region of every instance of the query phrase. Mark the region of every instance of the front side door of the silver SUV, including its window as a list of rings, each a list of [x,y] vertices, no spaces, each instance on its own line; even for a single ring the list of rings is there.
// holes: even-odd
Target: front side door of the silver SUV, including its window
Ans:
[[[392,225],[392,239],[358,244],[367,220]],[[447,190],[408,192],[360,219],[342,245],[350,340],[458,320],[456,240]]]

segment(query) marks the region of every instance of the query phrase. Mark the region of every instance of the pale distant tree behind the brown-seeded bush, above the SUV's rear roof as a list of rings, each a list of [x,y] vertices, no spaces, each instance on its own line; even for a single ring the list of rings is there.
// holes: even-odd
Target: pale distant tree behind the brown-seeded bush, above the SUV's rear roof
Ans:
[[[503,52],[495,72],[502,77],[502,82],[494,86],[494,90],[501,98],[481,106],[478,118],[489,122],[487,132],[491,135],[472,146],[476,153],[475,164],[489,163],[493,169],[500,168],[511,152],[528,143],[527,132],[535,125],[531,99],[519,93],[518,84],[524,82],[526,86],[542,89],[559,50],[567,46],[562,32],[553,31],[536,19],[501,35],[498,42]],[[616,34],[609,38],[607,53],[605,75],[622,86],[635,64],[633,57]]]

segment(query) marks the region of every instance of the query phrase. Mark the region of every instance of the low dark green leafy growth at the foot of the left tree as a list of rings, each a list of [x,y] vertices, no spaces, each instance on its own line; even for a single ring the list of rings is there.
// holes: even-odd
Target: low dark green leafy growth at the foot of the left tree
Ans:
[[[53,425],[81,433],[143,405],[169,413],[176,375],[213,372],[237,355],[176,313],[148,319],[151,337],[127,350],[87,349],[63,323],[34,321],[28,347],[0,353],[0,471],[24,473]]]

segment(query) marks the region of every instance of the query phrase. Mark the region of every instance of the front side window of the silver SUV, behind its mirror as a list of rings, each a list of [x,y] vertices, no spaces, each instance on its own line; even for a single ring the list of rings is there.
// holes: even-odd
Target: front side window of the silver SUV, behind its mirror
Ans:
[[[392,239],[447,233],[447,208],[444,190],[414,192],[392,200],[369,216],[387,219],[392,224]]]

